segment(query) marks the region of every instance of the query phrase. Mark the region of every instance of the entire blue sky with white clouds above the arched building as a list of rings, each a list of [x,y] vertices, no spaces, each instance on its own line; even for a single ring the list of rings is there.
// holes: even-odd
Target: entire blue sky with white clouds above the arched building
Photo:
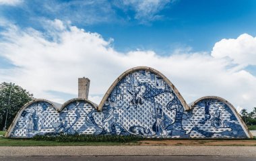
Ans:
[[[256,107],[256,1],[0,0],[0,82],[36,98],[100,103],[125,70],[150,66],[187,103],[206,95]]]

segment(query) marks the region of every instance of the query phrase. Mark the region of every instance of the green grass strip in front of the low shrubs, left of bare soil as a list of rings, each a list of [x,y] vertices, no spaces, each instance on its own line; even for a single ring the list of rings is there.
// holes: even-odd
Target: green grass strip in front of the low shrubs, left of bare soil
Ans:
[[[0,146],[121,146],[120,142],[54,142],[0,138]]]

